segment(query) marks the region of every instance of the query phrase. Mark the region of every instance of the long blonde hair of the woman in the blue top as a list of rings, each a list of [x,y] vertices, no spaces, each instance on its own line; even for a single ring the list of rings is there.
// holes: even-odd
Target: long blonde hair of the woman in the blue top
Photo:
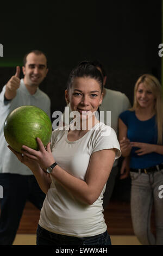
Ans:
[[[162,103],[162,89],[159,80],[153,75],[145,74],[139,77],[134,87],[134,103],[130,111],[135,111],[139,107],[139,103],[136,99],[136,92],[139,84],[143,83],[149,88],[155,96],[154,110],[156,113],[156,124],[158,127],[158,144],[162,144],[162,132],[163,132],[163,103]]]

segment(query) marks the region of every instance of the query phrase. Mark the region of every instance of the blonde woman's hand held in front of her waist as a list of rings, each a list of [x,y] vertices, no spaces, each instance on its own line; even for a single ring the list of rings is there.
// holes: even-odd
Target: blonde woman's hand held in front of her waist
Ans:
[[[135,153],[137,153],[138,156],[142,156],[142,155],[154,152],[153,144],[142,143],[142,142],[131,142],[130,144],[132,147],[140,148],[138,150],[135,150]]]

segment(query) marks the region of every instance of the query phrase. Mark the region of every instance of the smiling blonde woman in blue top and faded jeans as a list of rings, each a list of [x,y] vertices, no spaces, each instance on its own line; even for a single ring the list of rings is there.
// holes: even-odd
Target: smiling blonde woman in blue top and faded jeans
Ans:
[[[162,123],[160,83],[152,75],[142,75],[135,84],[133,107],[119,118],[122,156],[130,157],[131,217],[142,245],[163,245]],[[156,237],[150,227],[153,203]]]

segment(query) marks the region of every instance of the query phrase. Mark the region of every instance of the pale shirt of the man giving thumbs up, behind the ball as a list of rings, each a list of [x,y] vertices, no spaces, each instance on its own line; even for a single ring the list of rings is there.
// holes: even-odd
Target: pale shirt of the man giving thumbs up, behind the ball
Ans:
[[[8,114],[15,108],[31,105],[41,108],[45,111],[49,118],[51,118],[51,101],[47,94],[37,88],[35,94],[31,95],[23,79],[21,79],[20,87],[17,89],[14,99],[4,101],[5,86],[0,94],[0,173],[16,173],[22,175],[33,175],[32,171],[25,166],[25,164],[18,161],[17,157],[7,147],[8,143],[5,141],[3,126]]]

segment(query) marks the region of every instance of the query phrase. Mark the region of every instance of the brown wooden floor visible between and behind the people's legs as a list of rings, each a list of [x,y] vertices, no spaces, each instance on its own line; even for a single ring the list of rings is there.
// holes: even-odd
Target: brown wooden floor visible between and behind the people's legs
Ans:
[[[17,234],[35,234],[39,216],[40,211],[27,202]],[[134,235],[129,202],[112,200],[104,210],[104,218],[110,235]],[[152,211],[151,220],[151,228],[155,233],[154,211]]]

